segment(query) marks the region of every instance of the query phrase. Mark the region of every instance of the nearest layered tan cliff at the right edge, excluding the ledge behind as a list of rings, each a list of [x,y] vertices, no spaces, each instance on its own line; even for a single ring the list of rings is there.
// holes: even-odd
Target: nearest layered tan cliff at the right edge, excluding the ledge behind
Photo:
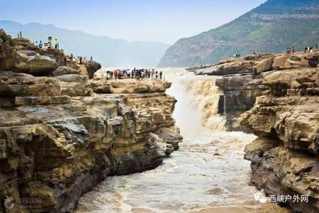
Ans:
[[[279,202],[293,212],[319,212],[319,68],[280,70],[262,84],[269,91],[240,117],[259,136],[245,148],[251,184],[267,195],[306,196]]]

